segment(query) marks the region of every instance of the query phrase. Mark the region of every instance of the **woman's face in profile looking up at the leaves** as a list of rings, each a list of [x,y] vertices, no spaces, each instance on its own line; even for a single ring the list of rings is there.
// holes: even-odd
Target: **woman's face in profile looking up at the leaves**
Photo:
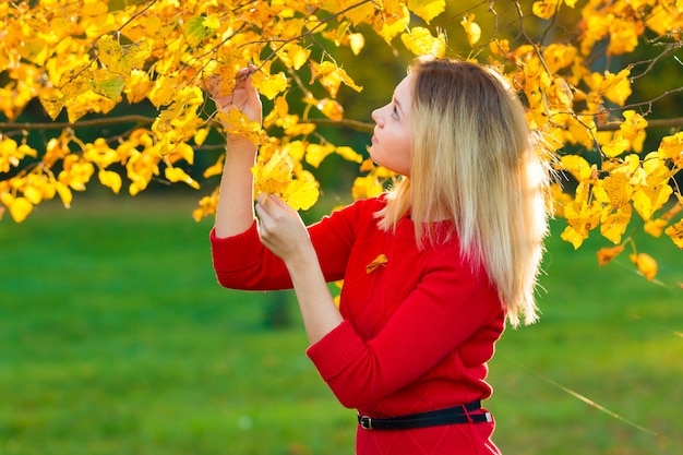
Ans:
[[[376,164],[403,176],[410,175],[414,77],[408,74],[396,86],[392,101],[372,111],[372,119],[376,124],[370,157]]]

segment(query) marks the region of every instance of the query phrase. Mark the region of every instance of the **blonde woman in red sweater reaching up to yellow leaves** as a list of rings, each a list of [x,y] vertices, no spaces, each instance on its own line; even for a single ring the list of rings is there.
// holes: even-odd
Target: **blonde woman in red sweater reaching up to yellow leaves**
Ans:
[[[250,71],[217,101],[261,121]],[[293,287],[309,357],[358,409],[357,454],[496,454],[487,362],[506,319],[536,320],[547,231],[548,175],[524,109],[490,69],[421,59],[372,118],[370,156],[403,180],[308,228],[273,195],[259,197],[256,223],[256,149],[228,134],[216,275]],[[338,279],[337,309],[326,283]]]

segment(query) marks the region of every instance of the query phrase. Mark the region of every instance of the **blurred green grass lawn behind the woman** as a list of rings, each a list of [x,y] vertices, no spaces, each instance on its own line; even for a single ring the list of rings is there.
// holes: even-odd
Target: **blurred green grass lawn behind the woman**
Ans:
[[[292,295],[218,287],[194,204],[94,199],[0,221],[0,455],[354,453],[354,411],[307,359]],[[683,451],[683,253],[652,242],[657,285],[626,258],[599,268],[599,244],[551,239],[541,322],[498,346],[505,454]],[[288,328],[271,323],[278,298]]]

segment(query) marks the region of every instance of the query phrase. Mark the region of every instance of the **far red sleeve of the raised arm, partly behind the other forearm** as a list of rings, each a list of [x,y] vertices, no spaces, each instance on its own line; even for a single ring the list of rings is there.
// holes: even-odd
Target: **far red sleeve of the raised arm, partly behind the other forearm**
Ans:
[[[358,201],[308,228],[327,282],[344,278],[358,224],[368,219],[374,223],[371,213],[379,208],[376,200]],[[283,261],[261,243],[256,221],[245,232],[228,238],[216,237],[212,229],[209,240],[214,271],[221,286],[244,290],[291,288]]]

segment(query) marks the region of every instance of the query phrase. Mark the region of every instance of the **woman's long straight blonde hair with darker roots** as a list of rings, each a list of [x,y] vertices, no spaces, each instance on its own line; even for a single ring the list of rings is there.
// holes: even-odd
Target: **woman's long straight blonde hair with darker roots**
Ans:
[[[524,107],[488,67],[420,59],[410,71],[410,176],[388,193],[379,225],[393,230],[410,212],[423,248],[438,241],[430,221],[453,220],[463,258],[486,270],[511,324],[530,324],[538,319],[549,171]]]

